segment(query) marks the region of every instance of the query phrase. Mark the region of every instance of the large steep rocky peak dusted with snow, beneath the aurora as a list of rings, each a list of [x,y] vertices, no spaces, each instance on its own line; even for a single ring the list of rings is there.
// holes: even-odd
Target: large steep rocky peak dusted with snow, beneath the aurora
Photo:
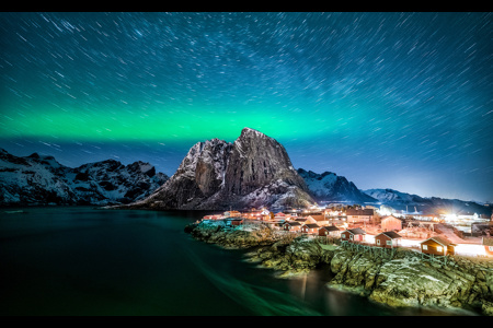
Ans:
[[[130,207],[222,210],[313,202],[284,147],[244,128],[233,143],[213,139],[194,144],[162,187]]]

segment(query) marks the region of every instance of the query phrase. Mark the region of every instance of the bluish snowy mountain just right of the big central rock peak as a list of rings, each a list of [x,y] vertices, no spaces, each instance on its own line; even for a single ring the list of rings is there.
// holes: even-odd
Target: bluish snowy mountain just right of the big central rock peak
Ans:
[[[332,172],[317,174],[312,171],[298,168],[298,174],[305,179],[308,189],[319,201],[376,202],[377,200],[362,192],[352,181]]]

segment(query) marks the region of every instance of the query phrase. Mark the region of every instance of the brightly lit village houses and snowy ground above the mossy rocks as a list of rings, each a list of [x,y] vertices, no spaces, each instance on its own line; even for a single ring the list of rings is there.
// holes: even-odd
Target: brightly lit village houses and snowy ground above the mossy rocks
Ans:
[[[473,226],[473,234],[463,233],[460,224],[456,224],[457,218],[454,219],[450,215],[392,213],[374,206],[332,204],[277,213],[267,209],[251,209],[246,212],[230,210],[205,215],[202,222],[225,229],[248,229],[261,224],[275,231],[306,235],[325,244],[339,239],[339,243],[359,249],[405,247],[431,259],[457,254],[493,260],[493,214],[490,218],[459,218],[462,219],[461,225]]]

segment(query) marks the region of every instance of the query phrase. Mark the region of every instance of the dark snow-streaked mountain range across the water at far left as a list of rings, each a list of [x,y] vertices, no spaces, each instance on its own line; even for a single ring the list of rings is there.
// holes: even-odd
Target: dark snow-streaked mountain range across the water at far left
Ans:
[[[128,203],[149,196],[168,176],[149,163],[118,161],[76,168],[53,156],[14,156],[0,149],[0,206]]]

